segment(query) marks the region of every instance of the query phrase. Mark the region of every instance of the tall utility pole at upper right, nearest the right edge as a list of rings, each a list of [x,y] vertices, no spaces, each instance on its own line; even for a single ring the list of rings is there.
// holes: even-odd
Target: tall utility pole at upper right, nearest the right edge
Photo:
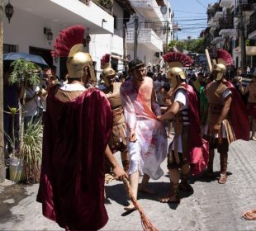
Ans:
[[[244,15],[243,15],[243,6],[242,0],[239,0],[239,38],[240,38],[240,48],[241,48],[241,68],[243,72],[246,69],[246,51],[245,51],[245,42],[244,42]]]

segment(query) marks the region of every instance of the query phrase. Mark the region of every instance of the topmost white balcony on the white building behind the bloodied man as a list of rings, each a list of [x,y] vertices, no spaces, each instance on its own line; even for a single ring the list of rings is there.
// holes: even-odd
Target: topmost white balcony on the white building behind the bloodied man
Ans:
[[[130,0],[130,3],[148,21],[163,21],[163,14],[155,0]],[[162,24],[164,26],[164,21]]]

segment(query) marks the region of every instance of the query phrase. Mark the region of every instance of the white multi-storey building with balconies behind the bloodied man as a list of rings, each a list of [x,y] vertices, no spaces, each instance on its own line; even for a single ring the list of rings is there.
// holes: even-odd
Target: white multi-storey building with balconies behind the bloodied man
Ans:
[[[138,17],[137,59],[159,64],[166,41],[173,39],[173,11],[168,1],[130,0]],[[135,16],[130,18],[126,35],[127,54],[135,58]],[[168,32],[167,32],[168,31]],[[168,33],[168,34],[167,34]]]

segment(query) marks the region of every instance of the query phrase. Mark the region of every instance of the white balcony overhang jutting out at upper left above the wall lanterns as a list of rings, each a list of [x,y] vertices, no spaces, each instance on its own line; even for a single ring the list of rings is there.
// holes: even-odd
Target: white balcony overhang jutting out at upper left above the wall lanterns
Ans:
[[[6,1],[6,0],[5,0]],[[114,18],[94,2],[78,0],[12,0],[13,7],[23,12],[47,18],[61,26],[81,24],[90,34],[114,32]],[[102,23],[103,19],[106,21]]]

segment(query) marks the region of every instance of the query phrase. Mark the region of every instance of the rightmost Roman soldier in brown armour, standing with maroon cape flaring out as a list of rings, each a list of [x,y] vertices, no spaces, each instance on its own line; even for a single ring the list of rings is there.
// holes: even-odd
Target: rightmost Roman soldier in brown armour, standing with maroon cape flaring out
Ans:
[[[227,179],[229,144],[235,139],[249,139],[249,122],[243,101],[235,87],[225,80],[225,64],[230,65],[233,62],[226,53],[223,50],[218,52],[218,64],[214,64],[212,71],[214,81],[206,87],[208,119],[204,128],[204,134],[210,144],[206,176],[214,177],[214,148],[217,148],[220,153],[220,184],[224,184]]]

